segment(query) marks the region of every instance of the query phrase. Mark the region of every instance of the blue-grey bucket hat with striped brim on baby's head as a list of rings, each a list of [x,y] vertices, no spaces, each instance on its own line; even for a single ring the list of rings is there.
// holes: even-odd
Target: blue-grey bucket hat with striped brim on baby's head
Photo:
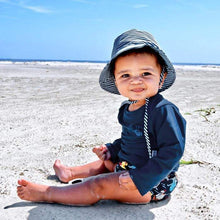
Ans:
[[[176,79],[176,73],[172,63],[163,52],[163,50],[160,49],[158,43],[150,33],[139,31],[136,29],[126,31],[115,39],[111,54],[111,60],[104,67],[99,78],[99,84],[101,88],[110,93],[120,95],[115,85],[114,74],[111,72],[111,62],[124,52],[134,49],[141,49],[144,47],[151,48],[164,61],[164,66],[162,68],[167,73],[167,76],[164,80],[162,87],[159,89],[159,92],[168,89]]]

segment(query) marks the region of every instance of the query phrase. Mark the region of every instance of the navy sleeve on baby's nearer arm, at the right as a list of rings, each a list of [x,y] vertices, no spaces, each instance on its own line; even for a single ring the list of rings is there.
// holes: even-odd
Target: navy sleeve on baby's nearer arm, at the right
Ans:
[[[157,156],[143,167],[129,170],[141,195],[159,184],[178,164],[185,147],[186,121],[174,105],[156,108],[151,114],[152,134],[158,148]]]

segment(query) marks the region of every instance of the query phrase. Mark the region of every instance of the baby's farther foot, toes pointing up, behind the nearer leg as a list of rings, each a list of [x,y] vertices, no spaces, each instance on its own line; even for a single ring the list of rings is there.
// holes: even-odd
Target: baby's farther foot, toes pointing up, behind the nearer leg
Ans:
[[[69,167],[63,165],[60,160],[56,160],[53,169],[56,173],[56,176],[59,178],[59,180],[63,183],[68,183],[70,180],[72,180],[72,172]]]

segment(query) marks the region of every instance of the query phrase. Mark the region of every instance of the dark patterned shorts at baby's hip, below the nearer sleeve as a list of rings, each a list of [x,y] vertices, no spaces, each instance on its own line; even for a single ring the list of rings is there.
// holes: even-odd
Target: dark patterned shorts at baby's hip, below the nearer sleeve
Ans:
[[[178,180],[176,174],[174,172],[170,173],[165,179],[163,179],[150,191],[151,202],[157,202],[167,199],[171,192],[175,189],[177,183]]]

